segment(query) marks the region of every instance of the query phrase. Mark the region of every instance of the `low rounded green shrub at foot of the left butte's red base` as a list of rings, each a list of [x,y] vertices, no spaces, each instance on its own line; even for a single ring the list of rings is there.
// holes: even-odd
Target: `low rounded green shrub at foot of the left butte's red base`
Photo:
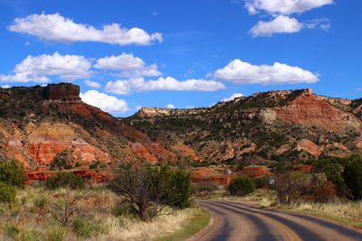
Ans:
[[[56,176],[48,178],[45,186],[51,190],[58,188],[71,188],[75,190],[84,188],[84,181],[73,173],[58,172]]]

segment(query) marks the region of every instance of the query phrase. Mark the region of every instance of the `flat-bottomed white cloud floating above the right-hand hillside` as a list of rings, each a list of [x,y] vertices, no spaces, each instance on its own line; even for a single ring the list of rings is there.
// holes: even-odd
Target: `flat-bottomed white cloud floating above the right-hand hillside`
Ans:
[[[214,78],[237,84],[296,84],[315,83],[317,74],[300,67],[275,62],[274,65],[252,65],[242,60],[233,60],[223,69],[214,72]]]

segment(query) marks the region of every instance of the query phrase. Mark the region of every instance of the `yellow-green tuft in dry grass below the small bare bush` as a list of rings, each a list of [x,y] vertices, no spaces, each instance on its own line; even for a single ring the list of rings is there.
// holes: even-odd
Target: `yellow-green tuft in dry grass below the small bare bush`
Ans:
[[[76,218],[72,224],[73,232],[82,238],[90,238],[94,236],[99,236],[101,233],[104,233],[104,227],[100,224],[96,224],[90,221],[87,221],[84,218]]]

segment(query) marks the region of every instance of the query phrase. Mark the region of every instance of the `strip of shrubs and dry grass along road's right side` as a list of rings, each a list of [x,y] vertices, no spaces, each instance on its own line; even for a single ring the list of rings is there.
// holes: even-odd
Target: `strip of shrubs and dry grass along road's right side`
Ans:
[[[309,164],[313,165],[310,171],[284,171],[255,181],[234,178],[226,192],[201,187],[198,197],[253,201],[265,208],[287,209],[362,228],[362,156],[327,157]]]

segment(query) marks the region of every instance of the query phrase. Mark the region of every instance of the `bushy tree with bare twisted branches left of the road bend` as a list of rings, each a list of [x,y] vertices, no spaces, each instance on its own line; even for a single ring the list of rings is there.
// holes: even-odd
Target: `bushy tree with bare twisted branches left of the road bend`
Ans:
[[[167,166],[152,167],[123,163],[116,170],[110,188],[124,196],[142,221],[155,218],[167,205],[189,206],[191,181],[185,171],[171,171]]]

